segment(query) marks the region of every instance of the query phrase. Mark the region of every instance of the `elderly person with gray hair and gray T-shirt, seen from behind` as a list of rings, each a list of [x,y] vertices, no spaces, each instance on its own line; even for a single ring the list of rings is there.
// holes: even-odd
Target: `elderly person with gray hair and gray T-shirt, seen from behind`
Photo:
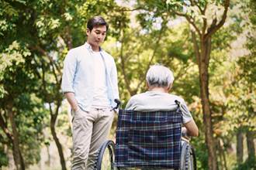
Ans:
[[[171,70],[161,65],[150,66],[146,79],[148,91],[131,97],[126,105],[126,110],[175,110],[177,108],[175,100],[178,100],[181,103],[182,123],[186,128],[187,134],[189,136],[198,136],[199,130],[189,112],[189,108],[185,104],[185,100],[182,97],[168,93],[175,80]]]

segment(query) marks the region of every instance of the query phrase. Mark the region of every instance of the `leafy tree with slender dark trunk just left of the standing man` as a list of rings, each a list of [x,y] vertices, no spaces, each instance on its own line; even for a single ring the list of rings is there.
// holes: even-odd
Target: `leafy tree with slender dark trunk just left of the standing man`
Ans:
[[[92,15],[106,14],[116,8],[109,1],[19,1],[2,3],[0,39],[2,49],[19,39],[26,44],[39,81],[39,97],[48,105],[50,131],[57,145],[62,169],[66,169],[56,123],[63,95],[61,68],[67,50],[85,42],[86,21]],[[106,16],[106,15],[105,15]],[[114,15],[106,16],[115,19]],[[24,55],[21,54],[21,58]],[[11,58],[12,59],[12,58]],[[1,89],[3,92],[3,89]],[[19,155],[18,155],[19,156]]]

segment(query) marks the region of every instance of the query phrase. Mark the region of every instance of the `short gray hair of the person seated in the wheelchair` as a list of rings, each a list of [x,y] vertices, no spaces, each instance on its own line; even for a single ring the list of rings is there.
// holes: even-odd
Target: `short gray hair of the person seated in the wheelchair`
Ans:
[[[146,80],[149,87],[170,87],[175,77],[166,66],[155,64],[147,71]]]

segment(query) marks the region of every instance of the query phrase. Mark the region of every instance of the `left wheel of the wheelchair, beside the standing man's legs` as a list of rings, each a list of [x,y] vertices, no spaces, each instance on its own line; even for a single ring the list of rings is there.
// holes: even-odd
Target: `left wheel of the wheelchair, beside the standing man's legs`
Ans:
[[[99,148],[99,155],[95,162],[96,170],[114,170],[115,144],[113,141],[106,141]]]

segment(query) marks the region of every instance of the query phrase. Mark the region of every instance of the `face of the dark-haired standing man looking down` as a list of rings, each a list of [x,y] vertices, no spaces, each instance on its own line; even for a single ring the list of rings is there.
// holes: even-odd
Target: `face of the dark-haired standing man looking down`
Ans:
[[[92,31],[87,29],[87,42],[91,46],[99,46],[106,37],[106,26],[95,26]]]

